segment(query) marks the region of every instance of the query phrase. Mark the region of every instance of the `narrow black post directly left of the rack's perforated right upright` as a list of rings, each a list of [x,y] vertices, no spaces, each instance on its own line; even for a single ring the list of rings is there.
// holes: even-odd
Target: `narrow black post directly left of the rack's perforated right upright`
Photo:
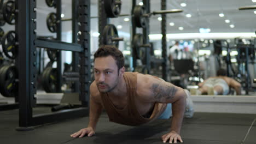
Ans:
[[[72,43],[77,44],[77,33],[78,33],[78,1],[72,0]],[[82,49],[82,47],[80,47]],[[83,49],[82,49],[83,50]],[[72,70],[78,72],[77,65],[79,64],[78,53],[72,52]],[[73,83],[72,92],[79,91],[79,83],[76,81]]]

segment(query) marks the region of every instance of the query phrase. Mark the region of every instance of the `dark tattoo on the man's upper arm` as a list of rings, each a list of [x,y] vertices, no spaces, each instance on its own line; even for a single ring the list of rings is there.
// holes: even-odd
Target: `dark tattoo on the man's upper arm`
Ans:
[[[176,94],[177,89],[171,85],[159,85],[159,83],[153,83],[152,92],[154,93],[154,98],[161,100],[162,98],[170,100]]]

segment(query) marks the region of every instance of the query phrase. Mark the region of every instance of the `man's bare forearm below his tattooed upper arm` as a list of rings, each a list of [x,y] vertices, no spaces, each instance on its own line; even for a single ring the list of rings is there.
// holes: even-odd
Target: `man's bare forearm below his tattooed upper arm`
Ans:
[[[186,106],[186,94],[181,96],[179,100],[172,103],[172,126],[171,130],[176,131],[178,134],[181,133],[182,121]]]

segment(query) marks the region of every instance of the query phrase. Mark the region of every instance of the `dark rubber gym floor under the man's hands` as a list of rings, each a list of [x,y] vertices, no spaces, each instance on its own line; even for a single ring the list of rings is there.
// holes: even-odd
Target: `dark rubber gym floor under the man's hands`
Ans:
[[[49,111],[49,108],[37,107],[33,111],[42,113]],[[171,119],[158,119],[139,127],[130,127],[109,122],[106,113],[102,113],[96,135],[72,138],[69,136],[71,133],[87,126],[88,117],[40,125],[32,131],[16,131],[18,115],[19,110],[0,111],[0,143],[162,143],[160,137],[170,130],[171,125]],[[248,114],[197,112],[193,118],[183,120],[183,143],[235,144],[241,143],[245,137],[243,143],[256,143],[255,118],[256,115]]]

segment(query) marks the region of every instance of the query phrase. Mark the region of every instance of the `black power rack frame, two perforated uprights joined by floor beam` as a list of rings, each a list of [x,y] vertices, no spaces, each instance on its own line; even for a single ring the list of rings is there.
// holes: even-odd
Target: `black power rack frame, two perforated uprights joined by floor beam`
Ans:
[[[20,111],[19,111],[19,127],[17,130],[32,130],[30,127],[33,125],[44,124],[49,122],[57,122],[67,118],[74,118],[78,116],[88,116],[88,110],[86,109],[72,109],[67,111],[61,111],[57,113],[44,113],[42,115],[34,115],[32,112],[32,106],[36,104],[34,99],[34,93],[36,93],[36,1],[24,0],[18,1],[21,7],[19,8],[19,64],[22,67],[19,69],[19,98],[20,98]],[[90,21],[88,22],[87,15],[90,16],[90,1],[79,0],[80,13],[83,16],[80,17],[82,23],[80,31],[82,32],[81,44],[84,49],[80,54],[80,74],[83,74],[81,83],[84,89],[81,89],[80,99],[82,99],[82,105],[88,105],[89,96],[89,84],[90,84]],[[61,7],[61,5],[59,5]],[[24,37],[26,35],[26,37]],[[23,37],[22,37],[23,36]],[[60,36],[57,36],[60,39]],[[61,61],[60,61],[61,62]],[[89,65],[89,66],[88,66]],[[88,79],[89,77],[89,79]],[[85,101],[86,100],[86,101]]]

